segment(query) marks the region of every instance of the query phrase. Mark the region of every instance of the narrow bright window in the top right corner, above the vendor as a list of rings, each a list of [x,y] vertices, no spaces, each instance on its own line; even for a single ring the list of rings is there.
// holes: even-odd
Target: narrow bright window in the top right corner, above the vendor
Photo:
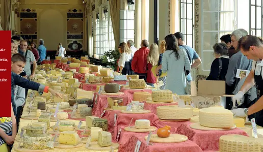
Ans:
[[[262,0],[250,0],[249,34],[262,37]]]

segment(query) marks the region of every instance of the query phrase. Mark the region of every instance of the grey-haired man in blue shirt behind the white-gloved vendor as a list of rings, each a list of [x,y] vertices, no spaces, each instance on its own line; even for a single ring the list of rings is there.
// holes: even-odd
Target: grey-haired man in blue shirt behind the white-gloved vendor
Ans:
[[[228,95],[232,95],[236,85],[240,81],[240,78],[235,77],[237,70],[251,70],[252,60],[247,59],[247,57],[243,55],[238,48],[239,39],[247,35],[248,32],[242,28],[236,29],[231,34],[231,44],[238,52],[231,56],[231,58],[229,59],[228,70],[226,73],[226,94]],[[231,109],[232,106],[235,107],[235,105],[232,105],[232,102],[229,101],[229,99],[226,99],[226,108]]]

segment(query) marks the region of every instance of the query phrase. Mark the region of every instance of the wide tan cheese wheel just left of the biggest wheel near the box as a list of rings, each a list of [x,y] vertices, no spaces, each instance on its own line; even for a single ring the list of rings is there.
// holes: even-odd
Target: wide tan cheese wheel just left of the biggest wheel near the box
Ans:
[[[159,119],[190,119],[193,108],[178,106],[159,106],[156,108]]]

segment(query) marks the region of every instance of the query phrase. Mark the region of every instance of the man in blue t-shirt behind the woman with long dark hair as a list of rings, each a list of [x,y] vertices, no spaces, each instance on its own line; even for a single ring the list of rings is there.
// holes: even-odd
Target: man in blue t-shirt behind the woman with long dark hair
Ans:
[[[184,45],[185,44],[185,42],[184,42],[185,38],[184,38],[182,33],[176,32],[174,34],[174,36],[178,40],[179,48],[186,50],[188,58],[190,60],[191,69],[195,69],[196,67],[198,67],[202,63],[202,61],[201,61],[201,58],[199,57],[199,55],[196,53],[195,49],[193,49],[190,46]],[[193,81],[191,73],[189,73],[187,75],[187,80]]]

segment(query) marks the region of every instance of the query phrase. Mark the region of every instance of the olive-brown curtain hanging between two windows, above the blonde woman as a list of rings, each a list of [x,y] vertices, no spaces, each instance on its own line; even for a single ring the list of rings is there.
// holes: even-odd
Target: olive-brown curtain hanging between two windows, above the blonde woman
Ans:
[[[120,42],[120,0],[109,0],[112,19],[115,49],[118,49]]]

